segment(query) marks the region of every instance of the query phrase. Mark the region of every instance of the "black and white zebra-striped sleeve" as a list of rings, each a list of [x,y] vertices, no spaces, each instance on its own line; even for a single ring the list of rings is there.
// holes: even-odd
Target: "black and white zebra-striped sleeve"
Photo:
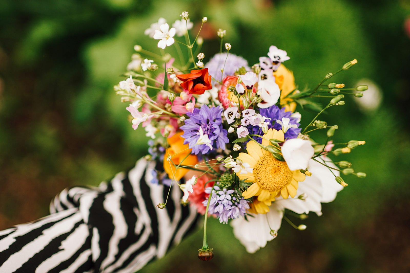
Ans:
[[[154,167],[141,159],[98,188],[66,189],[49,216],[0,231],[0,272],[133,273],[164,256],[198,215],[180,204],[178,187],[155,208],[168,188],[150,183]]]

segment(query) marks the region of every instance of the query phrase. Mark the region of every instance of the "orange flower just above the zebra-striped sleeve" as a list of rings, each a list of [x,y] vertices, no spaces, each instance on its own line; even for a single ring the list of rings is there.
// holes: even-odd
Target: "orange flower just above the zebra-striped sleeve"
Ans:
[[[164,154],[164,170],[169,178],[180,180],[188,171],[187,168],[176,169],[175,165],[179,165],[183,160],[182,165],[195,165],[198,163],[198,158],[191,154],[192,149],[187,149],[188,144],[184,144],[184,138],[181,137],[183,132],[176,133],[173,137],[168,138],[169,148]],[[171,161],[167,161],[168,156],[171,156]],[[186,157],[186,158],[185,158]],[[185,158],[185,159],[184,159]]]

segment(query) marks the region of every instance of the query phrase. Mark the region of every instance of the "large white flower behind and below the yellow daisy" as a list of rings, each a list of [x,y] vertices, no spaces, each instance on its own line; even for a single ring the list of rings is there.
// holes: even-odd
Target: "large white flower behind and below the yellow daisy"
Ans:
[[[328,165],[335,167],[333,163]],[[326,166],[310,160],[309,170],[312,172],[312,176],[306,176],[305,181],[299,183],[298,191],[294,198],[283,199],[278,197],[269,206],[269,212],[266,215],[250,214],[253,217],[248,217],[248,221],[243,217],[231,221],[235,237],[245,246],[249,253],[255,253],[260,248],[266,246],[268,241],[275,238],[270,234],[266,217],[271,228],[278,231],[285,209],[292,210],[298,214],[315,212],[321,215],[321,203],[333,201],[336,198],[337,192],[343,189],[343,186],[335,181],[335,176]],[[335,171],[335,175],[339,175],[339,173]],[[300,195],[306,196],[305,200],[298,199]]]

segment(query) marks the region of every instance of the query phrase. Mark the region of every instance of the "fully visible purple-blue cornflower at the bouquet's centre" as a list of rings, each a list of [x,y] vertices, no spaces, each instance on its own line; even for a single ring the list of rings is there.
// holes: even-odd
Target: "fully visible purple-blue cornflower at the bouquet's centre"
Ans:
[[[222,129],[222,111],[223,108],[211,107],[206,104],[201,108],[195,108],[192,113],[187,113],[188,119],[185,120],[185,125],[181,126],[184,131],[182,137],[185,138],[184,144],[189,144],[192,153],[205,154],[210,150],[206,144],[196,144],[200,136],[199,128],[203,130],[203,134],[207,135],[211,141],[212,147],[225,149],[225,144],[229,142],[227,137],[228,131]]]

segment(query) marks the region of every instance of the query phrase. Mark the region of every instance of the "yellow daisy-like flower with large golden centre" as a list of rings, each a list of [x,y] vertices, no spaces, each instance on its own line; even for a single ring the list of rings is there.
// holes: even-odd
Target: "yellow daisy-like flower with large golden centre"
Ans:
[[[270,145],[269,139],[285,140],[282,130],[276,131],[275,129],[269,129],[263,137],[262,145],[265,146]],[[305,180],[304,174],[299,170],[291,171],[285,161],[277,160],[254,141],[246,144],[246,151],[248,153],[239,153],[237,158],[248,163],[253,171],[246,174],[239,172],[237,176],[241,180],[246,179],[246,182],[253,183],[242,194],[245,199],[257,196],[252,210],[266,213],[275,197],[282,195],[284,199],[287,199],[289,195],[296,196],[298,182]]]

